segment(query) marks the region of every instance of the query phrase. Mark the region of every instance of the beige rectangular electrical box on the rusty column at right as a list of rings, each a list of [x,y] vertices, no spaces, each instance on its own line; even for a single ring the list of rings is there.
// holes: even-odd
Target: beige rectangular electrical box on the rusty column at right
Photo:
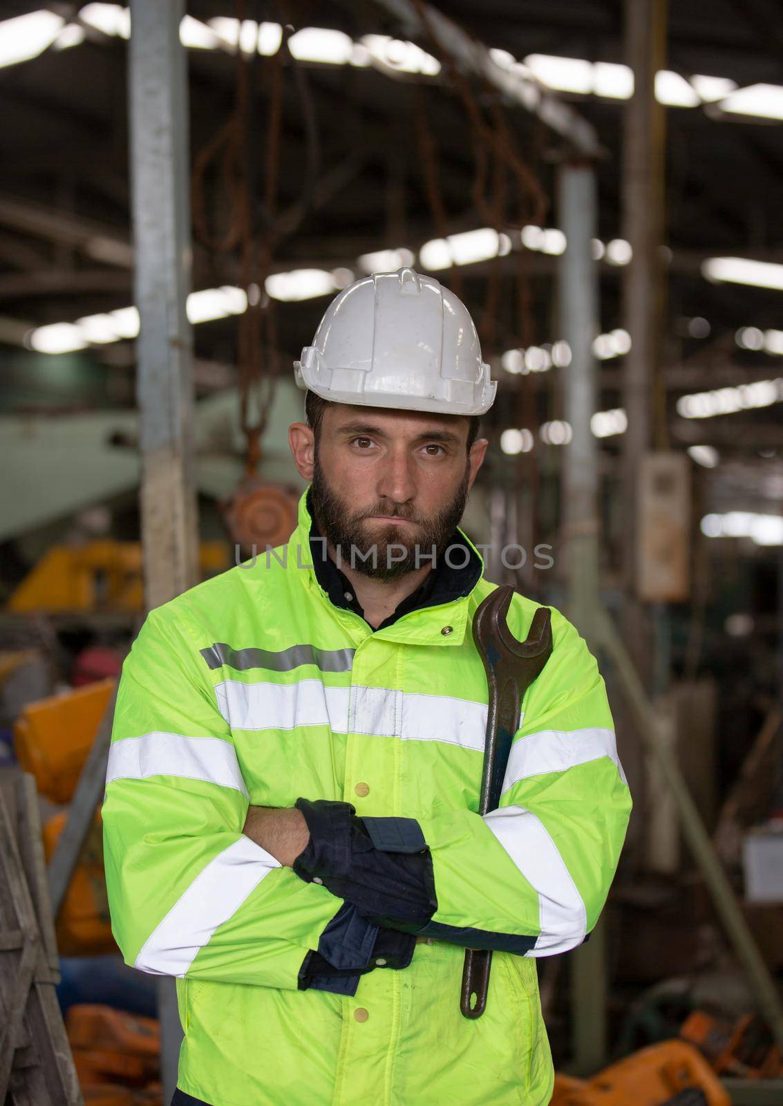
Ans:
[[[647,453],[639,469],[636,586],[647,603],[690,595],[690,461],[686,453]]]

